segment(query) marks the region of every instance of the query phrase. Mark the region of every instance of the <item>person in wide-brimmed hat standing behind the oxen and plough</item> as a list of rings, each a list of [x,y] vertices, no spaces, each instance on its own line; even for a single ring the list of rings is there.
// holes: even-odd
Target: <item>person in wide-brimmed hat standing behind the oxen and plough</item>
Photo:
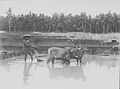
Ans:
[[[26,62],[26,58],[27,58],[27,55],[29,54],[30,57],[31,57],[31,61],[33,61],[33,54],[32,54],[32,45],[30,43],[30,38],[31,38],[31,35],[29,34],[25,34],[23,36],[23,49],[24,49],[24,54],[25,54],[25,62]]]

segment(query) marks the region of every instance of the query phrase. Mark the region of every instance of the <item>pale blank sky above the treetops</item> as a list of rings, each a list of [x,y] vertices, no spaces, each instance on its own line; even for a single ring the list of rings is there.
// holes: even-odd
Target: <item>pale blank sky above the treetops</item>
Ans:
[[[109,11],[120,14],[120,0],[0,0],[0,15],[5,15],[8,8],[14,14],[26,14],[29,11],[52,15],[64,13],[73,15],[86,12],[95,16]]]

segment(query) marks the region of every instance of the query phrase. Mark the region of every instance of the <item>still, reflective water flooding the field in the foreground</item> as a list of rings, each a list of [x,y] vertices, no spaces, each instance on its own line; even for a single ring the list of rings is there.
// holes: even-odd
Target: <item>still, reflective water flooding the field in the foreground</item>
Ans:
[[[22,58],[21,58],[22,59]],[[0,89],[118,89],[119,58],[85,55],[78,67],[56,61],[54,65],[36,60],[0,62]]]

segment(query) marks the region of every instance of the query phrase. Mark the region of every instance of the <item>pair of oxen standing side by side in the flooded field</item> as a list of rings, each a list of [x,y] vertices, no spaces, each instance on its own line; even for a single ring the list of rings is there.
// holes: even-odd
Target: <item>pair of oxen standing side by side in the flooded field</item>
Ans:
[[[78,65],[79,61],[80,63],[82,62],[82,57],[86,50],[88,50],[86,47],[51,47],[48,49],[49,58],[47,60],[47,63],[51,61],[52,64],[54,64],[55,60],[61,60],[62,63],[68,65],[70,64],[71,59],[76,59]]]

